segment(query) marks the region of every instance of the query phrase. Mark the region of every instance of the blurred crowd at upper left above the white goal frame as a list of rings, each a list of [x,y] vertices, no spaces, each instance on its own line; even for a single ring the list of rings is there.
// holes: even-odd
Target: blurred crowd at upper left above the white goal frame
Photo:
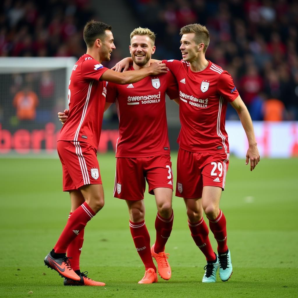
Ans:
[[[89,0],[3,0],[0,56],[81,56],[83,28],[92,17]]]

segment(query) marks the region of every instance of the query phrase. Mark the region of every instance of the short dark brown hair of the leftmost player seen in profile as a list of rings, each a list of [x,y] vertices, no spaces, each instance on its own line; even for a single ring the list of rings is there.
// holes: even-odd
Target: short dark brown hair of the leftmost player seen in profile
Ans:
[[[91,20],[86,23],[84,27],[84,41],[86,42],[87,47],[91,47],[94,44],[94,41],[103,39],[105,37],[105,30],[111,30],[112,26],[107,25],[103,22],[96,22]]]

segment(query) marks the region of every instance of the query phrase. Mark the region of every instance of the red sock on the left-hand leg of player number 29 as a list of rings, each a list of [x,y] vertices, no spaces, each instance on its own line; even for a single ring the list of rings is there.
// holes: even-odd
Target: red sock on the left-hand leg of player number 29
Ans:
[[[205,255],[206,260],[209,262],[214,261],[215,254],[213,252],[208,234],[209,230],[207,227],[207,224],[204,221],[204,218],[197,223],[191,224],[188,222],[188,226],[191,232],[191,236],[193,237],[193,240],[195,241],[195,244],[198,246],[199,249],[201,249],[201,252]]]

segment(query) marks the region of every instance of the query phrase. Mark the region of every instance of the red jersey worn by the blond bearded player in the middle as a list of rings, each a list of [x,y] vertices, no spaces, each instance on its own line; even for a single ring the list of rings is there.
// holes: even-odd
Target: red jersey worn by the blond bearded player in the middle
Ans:
[[[130,70],[134,70],[130,67]],[[116,103],[119,138],[116,157],[170,154],[165,94],[179,97],[171,72],[148,76],[129,85],[108,83],[106,101]]]

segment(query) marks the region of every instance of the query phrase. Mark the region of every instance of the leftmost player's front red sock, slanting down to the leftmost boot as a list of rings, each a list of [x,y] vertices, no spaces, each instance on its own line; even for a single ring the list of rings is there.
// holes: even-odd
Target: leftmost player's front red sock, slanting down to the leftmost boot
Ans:
[[[67,224],[54,247],[55,253],[66,253],[69,244],[77,237],[77,235],[79,235],[79,233],[85,228],[87,222],[94,215],[94,211],[86,202],[75,209],[75,211],[69,217]]]

